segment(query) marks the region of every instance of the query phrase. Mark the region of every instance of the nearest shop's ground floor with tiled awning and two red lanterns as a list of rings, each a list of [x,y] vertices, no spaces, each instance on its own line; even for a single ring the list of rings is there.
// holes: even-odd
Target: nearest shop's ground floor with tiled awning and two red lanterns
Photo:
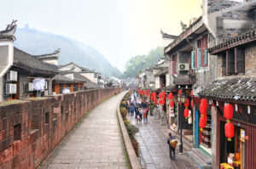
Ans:
[[[251,78],[221,79],[199,93],[212,103],[212,141],[207,146],[212,146],[213,168],[255,169],[255,84]]]

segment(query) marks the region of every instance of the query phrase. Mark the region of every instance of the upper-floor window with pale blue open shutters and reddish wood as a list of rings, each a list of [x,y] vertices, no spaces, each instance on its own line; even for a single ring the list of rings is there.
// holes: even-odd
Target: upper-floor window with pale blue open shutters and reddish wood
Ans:
[[[191,68],[193,70],[208,66],[208,37],[202,37],[197,41],[197,48],[191,51]]]

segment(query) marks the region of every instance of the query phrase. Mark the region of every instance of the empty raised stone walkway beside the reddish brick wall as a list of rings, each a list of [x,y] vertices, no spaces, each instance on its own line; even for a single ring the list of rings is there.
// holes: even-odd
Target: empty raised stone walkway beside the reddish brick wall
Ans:
[[[126,92],[90,110],[39,169],[128,168],[119,129],[117,104]]]

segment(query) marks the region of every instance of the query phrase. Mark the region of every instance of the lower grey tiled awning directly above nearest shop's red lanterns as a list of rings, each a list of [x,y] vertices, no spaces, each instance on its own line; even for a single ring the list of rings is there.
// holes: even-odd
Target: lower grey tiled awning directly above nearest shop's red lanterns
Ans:
[[[256,101],[256,79],[236,78],[212,82],[200,93],[201,97]]]

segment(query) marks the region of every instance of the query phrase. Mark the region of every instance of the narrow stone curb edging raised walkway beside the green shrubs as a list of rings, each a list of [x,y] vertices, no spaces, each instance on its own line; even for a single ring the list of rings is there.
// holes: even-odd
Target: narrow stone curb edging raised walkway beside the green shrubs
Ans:
[[[137,155],[135,153],[135,150],[132,147],[129,134],[126,130],[125,123],[124,123],[123,118],[122,118],[121,113],[120,113],[120,102],[117,106],[117,112],[118,112],[118,115],[119,115],[119,125],[121,127],[121,132],[122,132],[124,142],[125,142],[125,149],[127,151],[127,154],[128,154],[129,160],[130,160],[131,168],[132,169],[142,169],[142,166],[140,165],[140,163],[137,159]]]

